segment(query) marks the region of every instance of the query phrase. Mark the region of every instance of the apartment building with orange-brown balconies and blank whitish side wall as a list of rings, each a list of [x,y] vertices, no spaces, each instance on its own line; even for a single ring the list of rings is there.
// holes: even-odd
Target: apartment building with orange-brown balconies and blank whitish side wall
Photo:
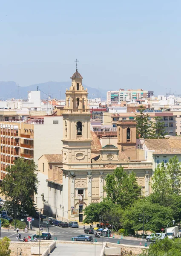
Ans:
[[[6,175],[6,167],[14,164],[17,157],[33,159],[37,164],[43,154],[60,154],[62,136],[62,116],[0,121],[0,180]]]

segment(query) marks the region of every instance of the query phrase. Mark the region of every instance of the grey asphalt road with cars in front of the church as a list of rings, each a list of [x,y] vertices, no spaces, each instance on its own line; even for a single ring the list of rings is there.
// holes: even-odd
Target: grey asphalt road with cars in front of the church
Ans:
[[[37,230],[37,228],[35,228]],[[43,229],[44,232],[46,232],[46,228]],[[24,231],[21,231],[21,240],[23,240],[23,237],[26,236],[32,236],[36,234],[36,231],[29,230],[28,233],[25,233]],[[52,240],[54,240],[54,237],[57,237],[57,240],[64,240],[64,241],[71,241],[73,236],[78,236],[83,234],[83,228],[70,228],[70,227],[55,227],[55,226],[50,226],[49,225],[49,233],[52,234]],[[13,230],[1,230],[1,237],[7,236],[11,241],[16,241],[16,236],[17,233],[14,232]],[[94,239],[94,235],[93,239]],[[96,238],[98,242],[102,243],[102,236],[100,238]],[[111,242],[111,243],[118,243],[118,240],[120,241],[120,244],[127,244],[127,245],[139,245],[141,239],[130,239],[129,237],[125,237],[124,239],[118,239],[116,238],[108,238],[108,237],[103,237],[103,242]],[[142,241],[142,245],[144,245],[145,241]],[[149,246],[151,242],[147,242],[147,246]]]

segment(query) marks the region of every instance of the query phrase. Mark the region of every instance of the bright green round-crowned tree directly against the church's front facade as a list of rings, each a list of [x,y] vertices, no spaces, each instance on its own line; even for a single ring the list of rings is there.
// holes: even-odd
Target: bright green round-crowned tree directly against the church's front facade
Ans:
[[[107,198],[122,208],[131,205],[141,197],[141,187],[138,186],[135,174],[127,174],[123,167],[116,168],[114,173],[106,175],[104,191]]]

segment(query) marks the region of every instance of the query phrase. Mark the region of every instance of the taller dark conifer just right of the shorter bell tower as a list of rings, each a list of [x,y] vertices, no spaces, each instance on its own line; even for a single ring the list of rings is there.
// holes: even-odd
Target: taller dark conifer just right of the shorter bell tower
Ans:
[[[144,112],[144,107],[141,105],[138,111],[139,114],[136,115],[135,119],[136,125],[136,137],[139,138],[149,138],[152,136],[152,122],[149,121],[149,114]]]

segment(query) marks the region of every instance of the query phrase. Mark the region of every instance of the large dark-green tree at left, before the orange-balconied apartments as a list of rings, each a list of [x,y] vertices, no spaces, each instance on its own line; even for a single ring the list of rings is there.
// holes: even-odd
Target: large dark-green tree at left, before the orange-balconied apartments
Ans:
[[[34,214],[35,205],[31,195],[37,193],[37,166],[34,161],[25,161],[23,158],[15,160],[14,165],[6,168],[6,177],[3,179],[0,191],[7,201],[5,207],[12,212],[17,207],[19,216],[28,213]]]

